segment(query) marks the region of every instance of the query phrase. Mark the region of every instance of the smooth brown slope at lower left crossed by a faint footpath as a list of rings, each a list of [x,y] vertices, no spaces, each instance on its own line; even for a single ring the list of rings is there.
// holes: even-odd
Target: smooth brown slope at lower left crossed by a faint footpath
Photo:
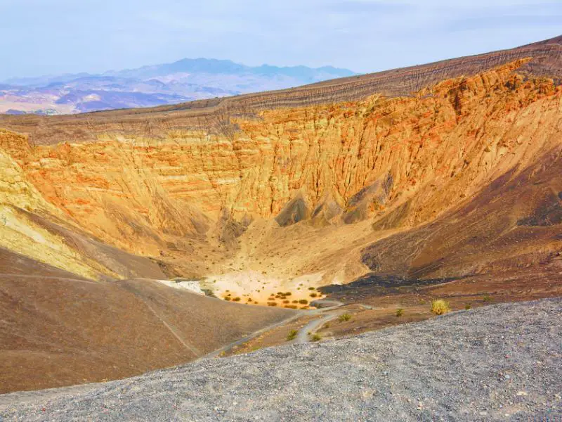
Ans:
[[[0,392],[188,362],[292,315],[150,280],[88,281],[0,250]]]

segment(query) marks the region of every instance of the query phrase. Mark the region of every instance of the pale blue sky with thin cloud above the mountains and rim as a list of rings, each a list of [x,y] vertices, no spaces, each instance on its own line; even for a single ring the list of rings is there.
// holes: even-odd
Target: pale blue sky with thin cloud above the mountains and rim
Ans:
[[[0,80],[199,57],[372,72],[560,34],[561,0],[0,0]]]

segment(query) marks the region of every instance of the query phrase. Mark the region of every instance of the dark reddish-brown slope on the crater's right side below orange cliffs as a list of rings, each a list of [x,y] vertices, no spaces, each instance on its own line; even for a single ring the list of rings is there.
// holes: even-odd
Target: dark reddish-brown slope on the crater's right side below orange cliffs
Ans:
[[[375,224],[391,226],[398,218],[391,214]],[[362,262],[379,276],[409,279],[551,266],[551,276],[562,281],[561,253],[562,148],[557,147],[430,224],[373,243]]]

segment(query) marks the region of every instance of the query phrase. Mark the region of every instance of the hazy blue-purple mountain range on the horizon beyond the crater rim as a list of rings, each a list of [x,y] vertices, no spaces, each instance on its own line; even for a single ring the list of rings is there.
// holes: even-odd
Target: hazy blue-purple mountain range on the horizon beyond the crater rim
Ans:
[[[92,75],[11,78],[0,84],[0,113],[70,114],[181,103],[201,98],[297,87],[355,75],[324,66],[251,67],[230,60],[185,58]]]

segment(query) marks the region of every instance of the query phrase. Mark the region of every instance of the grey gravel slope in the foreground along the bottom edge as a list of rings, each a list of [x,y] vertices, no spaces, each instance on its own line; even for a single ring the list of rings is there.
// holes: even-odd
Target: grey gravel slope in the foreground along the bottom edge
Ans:
[[[562,299],[0,395],[0,421],[560,421]]]

